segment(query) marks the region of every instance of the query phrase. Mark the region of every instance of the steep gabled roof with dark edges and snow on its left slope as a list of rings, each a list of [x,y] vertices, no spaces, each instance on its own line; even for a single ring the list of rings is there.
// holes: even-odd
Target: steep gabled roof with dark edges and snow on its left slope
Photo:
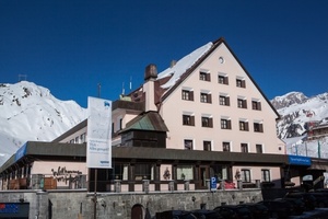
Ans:
[[[255,82],[255,80],[253,79],[253,77],[249,74],[249,72],[246,70],[246,68],[243,66],[243,64],[241,62],[241,60],[233,53],[233,50],[226,44],[226,42],[225,42],[225,39],[223,37],[220,37],[219,39],[216,39],[216,41],[214,41],[212,43],[208,43],[204,46],[200,47],[199,49],[196,49],[195,51],[192,51],[190,55],[185,56],[184,58],[187,58],[188,56],[191,56],[191,60],[188,62],[191,66],[189,66],[189,67],[188,66],[184,66],[185,69],[186,69],[184,72],[175,71],[174,69],[172,69],[169,71],[169,69],[166,69],[165,71],[159,73],[159,79],[163,79],[164,77],[169,77],[169,76],[172,77],[171,78],[172,81],[168,80],[167,83],[166,83],[166,85],[165,84],[164,84],[164,87],[162,85],[162,88],[166,88],[167,90],[162,95],[161,102],[165,101],[165,99],[167,99],[171,95],[171,93],[175,89],[177,89],[180,85],[180,83],[184,82],[184,80],[186,78],[188,78],[188,76],[190,76],[195,71],[195,69],[198,68],[200,66],[200,64],[202,64],[221,44],[224,44],[227,47],[227,49],[233,55],[233,57],[236,59],[236,61],[238,62],[238,65],[246,72],[247,77],[250,79],[250,81],[254,83],[254,85],[257,88],[257,90],[261,93],[261,95],[268,102],[268,104],[270,105],[270,107],[272,108],[272,111],[276,113],[277,119],[280,118],[280,115],[277,112],[277,110],[273,107],[273,105],[271,104],[271,102],[268,100],[268,97],[265,95],[265,93],[261,91],[261,89]],[[192,55],[195,55],[195,56],[192,57]],[[197,55],[200,55],[200,56],[197,56]],[[183,60],[183,59],[180,59],[180,60]]]

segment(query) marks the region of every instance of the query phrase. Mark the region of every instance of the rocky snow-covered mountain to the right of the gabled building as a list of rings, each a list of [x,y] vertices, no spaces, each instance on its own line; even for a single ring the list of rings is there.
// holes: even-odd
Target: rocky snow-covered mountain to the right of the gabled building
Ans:
[[[323,125],[328,120],[328,93],[307,97],[300,92],[277,96],[271,101],[281,115],[277,124],[279,138],[302,136],[307,124]]]

